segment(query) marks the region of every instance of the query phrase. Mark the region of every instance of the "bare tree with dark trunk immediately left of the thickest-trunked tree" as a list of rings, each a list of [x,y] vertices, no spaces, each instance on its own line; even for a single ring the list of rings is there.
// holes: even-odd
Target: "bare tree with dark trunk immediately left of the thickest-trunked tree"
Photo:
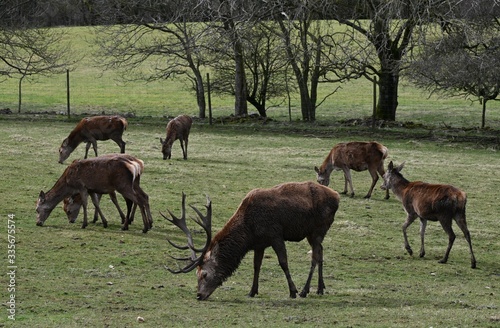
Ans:
[[[318,97],[320,83],[339,83],[359,76],[351,67],[352,54],[345,51],[342,36],[331,21],[323,20],[331,1],[287,1],[273,5],[275,31],[283,41],[289,65],[295,75],[300,95],[302,119],[316,120],[316,108],[335,93],[334,88]]]

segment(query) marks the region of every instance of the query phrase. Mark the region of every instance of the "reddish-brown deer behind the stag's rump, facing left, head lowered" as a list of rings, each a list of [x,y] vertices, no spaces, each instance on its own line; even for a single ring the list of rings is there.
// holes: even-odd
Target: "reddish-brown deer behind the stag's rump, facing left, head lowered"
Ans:
[[[384,159],[387,157],[387,147],[375,142],[353,141],[339,143],[335,145],[323,164],[314,167],[318,182],[324,186],[330,184],[330,174],[333,170],[342,170],[344,172],[344,191],[347,194],[347,184],[351,188],[351,197],[354,197],[354,188],[352,186],[351,170],[360,172],[368,170],[372,176],[372,185],[365,198],[372,196],[373,188],[377,184],[378,174],[383,176]],[[377,174],[378,173],[378,174]],[[386,191],[385,199],[389,199],[389,190]]]

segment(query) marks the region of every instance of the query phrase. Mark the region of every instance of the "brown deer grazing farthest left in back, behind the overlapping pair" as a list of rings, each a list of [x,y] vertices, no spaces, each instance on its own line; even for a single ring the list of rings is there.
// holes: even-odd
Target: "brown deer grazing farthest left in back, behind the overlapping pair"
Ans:
[[[85,159],[88,157],[90,145],[94,148],[97,157],[97,140],[111,139],[120,146],[120,153],[125,153],[125,142],[122,140],[122,135],[127,125],[127,120],[117,115],[83,118],[69,136],[63,140],[59,148],[59,163],[63,163],[82,142],[87,143]]]

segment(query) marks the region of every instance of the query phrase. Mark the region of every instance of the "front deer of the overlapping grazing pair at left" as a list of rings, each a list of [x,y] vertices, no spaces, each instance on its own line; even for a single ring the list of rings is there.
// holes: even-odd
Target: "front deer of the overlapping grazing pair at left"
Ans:
[[[87,223],[87,197],[89,194],[109,194],[119,192],[125,199],[137,204],[141,210],[144,229],[146,233],[153,225],[149,209],[149,197],[140,187],[141,165],[139,159],[128,160],[123,155],[112,157],[94,157],[91,159],[75,160],[63,172],[59,180],[47,192],[40,192],[36,204],[36,224],[43,226],[52,210],[64,198],[76,193],[80,194],[83,201],[83,225]],[[128,155],[126,155],[128,156]],[[94,206],[100,212],[99,204],[92,197]],[[125,220],[122,229],[128,229],[129,220]]]

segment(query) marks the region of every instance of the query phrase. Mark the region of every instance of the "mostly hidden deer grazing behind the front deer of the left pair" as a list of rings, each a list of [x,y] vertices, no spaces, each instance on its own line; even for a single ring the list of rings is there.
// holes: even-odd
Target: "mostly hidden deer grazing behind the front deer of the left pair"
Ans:
[[[101,157],[105,157],[105,156],[106,157],[113,157],[113,156],[116,156],[116,154],[103,155]],[[126,159],[130,162],[136,162],[137,165],[139,165],[139,167],[140,167],[139,175],[144,172],[144,162],[142,160],[138,160],[137,158],[135,158],[133,156],[125,155],[125,154],[122,154],[119,156],[122,159]],[[102,194],[95,194],[95,196],[92,196],[92,197],[96,197],[96,199],[94,199],[93,202],[97,202],[98,204],[100,204],[101,196],[102,196]],[[125,202],[127,203],[127,215],[125,216],[125,214],[123,214],[123,212],[120,208],[120,205],[118,204],[118,199],[116,198],[116,193],[114,191],[111,192],[109,194],[109,197],[111,198],[111,201],[113,202],[116,209],[118,210],[118,213],[120,214],[120,217],[122,219],[122,224],[125,224],[125,221],[127,220],[126,218],[129,218],[128,223],[132,223],[134,220],[134,214],[135,214],[135,210],[137,208],[137,205],[133,204],[133,202],[131,200],[125,199]],[[82,207],[82,205],[83,205],[83,201],[82,201],[82,198],[81,198],[79,193],[74,194],[70,197],[64,198],[63,210],[66,213],[66,216],[68,217],[69,222],[74,223],[76,221],[76,219],[78,218],[78,213],[80,213],[80,208]],[[132,205],[133,205],[133,208],[132,208]],[[94,219],[92,220],[92,223],[97,222],[99,215],[100,215],[99,211],[96,208],[95,212],[94,212]],[[108,222],[107,222],[106,218],[102,215],[101,215],[101,221],[102,221],[103,227],[107,228]]]

